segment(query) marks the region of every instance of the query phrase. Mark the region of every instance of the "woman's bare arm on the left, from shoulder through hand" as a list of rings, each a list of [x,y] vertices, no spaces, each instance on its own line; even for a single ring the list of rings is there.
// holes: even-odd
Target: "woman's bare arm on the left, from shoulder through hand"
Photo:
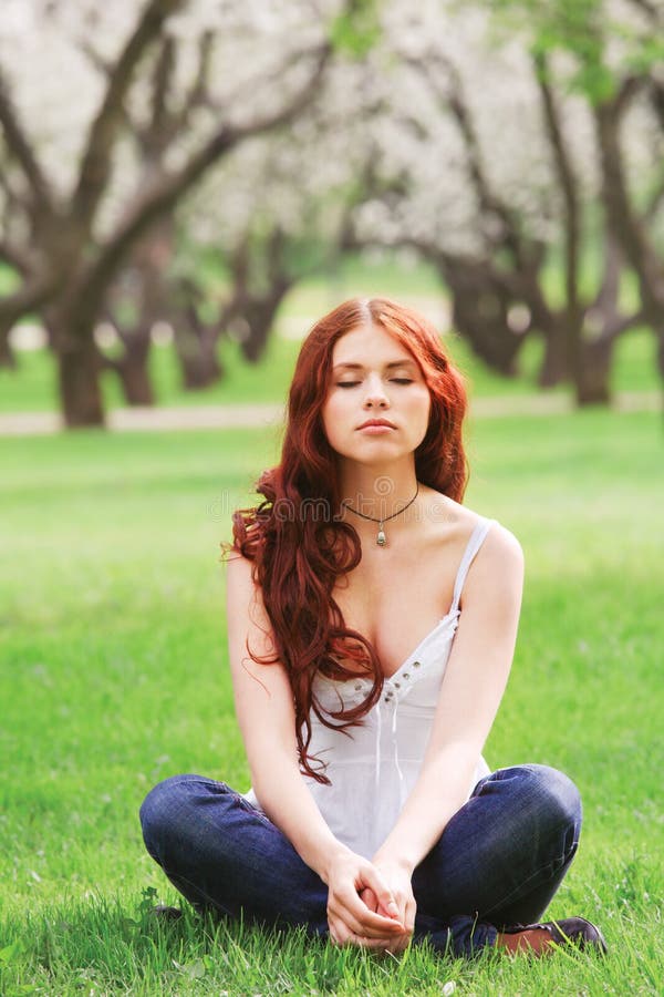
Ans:
[[[383,909],[398,916],[388,887],[371,862],[334,837],[304,783],[284,666],[280,661],[259,665],[247,651],[248,644],[257,657],[272,656],[274,646],[260,589],[251,578],[251,563],[239,555],[228,562],[227,620],[236,711],[261,808],[328,885],[333,941],[395,937],[403,933],[400,922],[370,911],[360,900],[360,893],[370,887]]]

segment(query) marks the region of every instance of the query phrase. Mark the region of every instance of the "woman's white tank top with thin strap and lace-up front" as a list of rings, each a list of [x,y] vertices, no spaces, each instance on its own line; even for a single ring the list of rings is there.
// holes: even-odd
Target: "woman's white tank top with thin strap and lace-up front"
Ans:
[[[468,568],[496,520],[480,517],[459,569],[449,613],[388,679],[381,699],[347,732],[325,727],[311,713],[309,756],[324,762],[330,785],[310,777],[307,784],[328,826],[352,851],[371,859],[385,841],[413,790],[428,744],[438,693],[458,626],[459,599]],[[317,676],[313,693],[325,711],[357,706],[366,699],[371,680],[357,677],[334,681]],[[468,787],[489,774],[480,756]],[[247,799],[260,804],[249,790]]]

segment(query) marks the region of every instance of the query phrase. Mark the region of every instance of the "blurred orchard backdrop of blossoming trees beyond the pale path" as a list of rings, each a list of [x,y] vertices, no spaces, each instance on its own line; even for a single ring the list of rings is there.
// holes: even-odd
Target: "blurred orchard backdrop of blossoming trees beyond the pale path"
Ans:
[[[652,394],[663,28],[654,0],[6,0],[0,410],[279,401],[353,294],[429,315],[480,393]]]

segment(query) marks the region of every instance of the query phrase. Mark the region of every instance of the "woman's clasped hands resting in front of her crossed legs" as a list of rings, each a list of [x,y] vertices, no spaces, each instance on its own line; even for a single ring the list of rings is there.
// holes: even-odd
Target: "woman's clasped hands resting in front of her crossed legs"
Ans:
[[[328,925],[335,945],[403,952],[415,925],[411,872],[398,862],[347,852],[328,872]]]

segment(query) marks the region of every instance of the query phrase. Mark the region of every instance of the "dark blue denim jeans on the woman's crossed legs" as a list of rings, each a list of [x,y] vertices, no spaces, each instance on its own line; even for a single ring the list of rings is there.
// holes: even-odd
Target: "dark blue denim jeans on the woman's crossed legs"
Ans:
[[[174,775],[141,808],[147,851],[197,909],[326,935],[328,887],[268,818],[222,782]],[[574,856],[579,792],[546,765],[480,779],[413,873],[413,941],[469,956],[538,921]]]

